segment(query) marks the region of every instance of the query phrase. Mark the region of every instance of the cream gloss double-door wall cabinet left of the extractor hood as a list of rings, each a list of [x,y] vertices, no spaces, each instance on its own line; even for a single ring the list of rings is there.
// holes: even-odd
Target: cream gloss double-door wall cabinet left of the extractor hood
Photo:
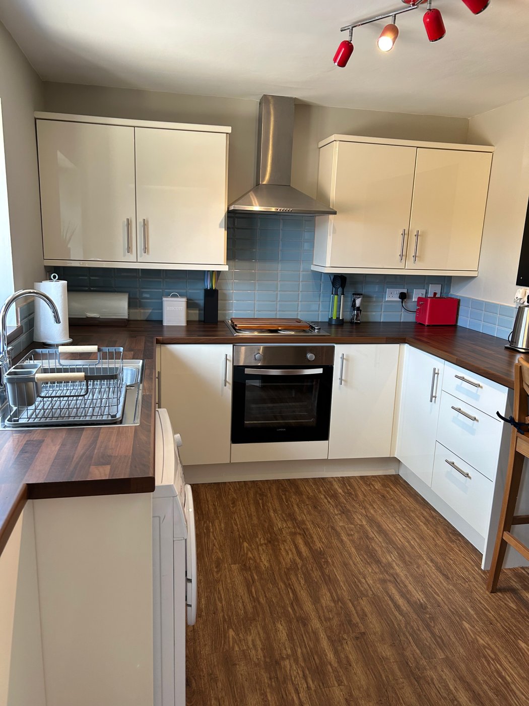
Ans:
[[[231,128],[35,115],[45,265],[227,270]]]

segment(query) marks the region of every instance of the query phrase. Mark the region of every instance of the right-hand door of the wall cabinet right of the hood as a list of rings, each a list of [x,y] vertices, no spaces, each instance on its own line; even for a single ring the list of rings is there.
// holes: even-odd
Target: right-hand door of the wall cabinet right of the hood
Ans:
[[[418,148],[406,268],[478,270],[492,155]]]

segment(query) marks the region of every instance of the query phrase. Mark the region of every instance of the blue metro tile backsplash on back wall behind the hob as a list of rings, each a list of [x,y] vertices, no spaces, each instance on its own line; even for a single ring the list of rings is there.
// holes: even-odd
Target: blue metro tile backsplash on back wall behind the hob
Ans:
[[[312,272],[314,216],[230,215],[229,270],[219,279],[219,319],[231,316],[284,316],[326,321],[329,275]],[[162,319],[162,296],[188,297],[188,318],[201,319],[204,273],[193,270],[126,270],[59,267],[54,271],[74,291],[128,292],[131,318]],[[346,310],[351,293],[364,292],[364,321],[414,321],[399,302],[384,301],[387,287],[414,288],[429,283],[450,291],[450,277],[348,275]],[[415,304],[410,304],[415,309]]]

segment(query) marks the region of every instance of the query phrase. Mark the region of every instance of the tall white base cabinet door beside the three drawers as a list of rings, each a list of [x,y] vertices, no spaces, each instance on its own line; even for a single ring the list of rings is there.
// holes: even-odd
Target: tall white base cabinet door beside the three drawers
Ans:
[[[444,361],[406,346],[396,457],[432,485]]]

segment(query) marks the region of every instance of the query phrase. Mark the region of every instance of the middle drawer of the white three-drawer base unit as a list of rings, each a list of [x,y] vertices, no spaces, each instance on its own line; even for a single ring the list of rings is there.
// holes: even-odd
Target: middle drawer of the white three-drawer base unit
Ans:
[[[502,429],[499,419],[442,393],[437,441],[491,480],[496,474]]]

